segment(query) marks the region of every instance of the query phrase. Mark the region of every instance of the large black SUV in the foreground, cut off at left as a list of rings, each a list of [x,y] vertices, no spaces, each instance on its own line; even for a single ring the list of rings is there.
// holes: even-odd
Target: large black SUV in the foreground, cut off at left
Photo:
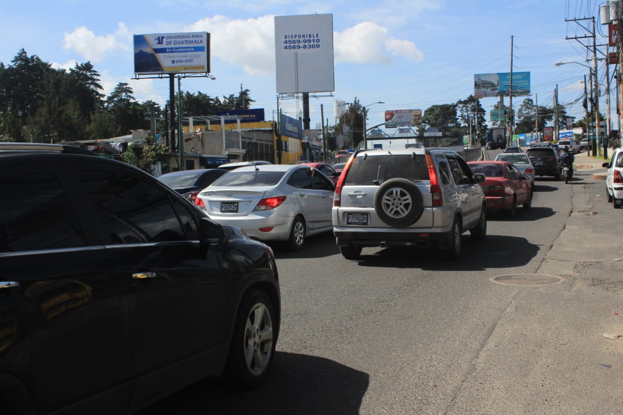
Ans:
[[[0,414],[132,413],[207,376],[267,376],[272,250],[157,179],[0,143]]]

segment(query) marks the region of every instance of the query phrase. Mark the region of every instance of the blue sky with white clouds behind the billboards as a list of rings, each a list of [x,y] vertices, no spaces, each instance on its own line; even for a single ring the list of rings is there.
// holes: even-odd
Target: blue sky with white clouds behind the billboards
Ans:
[[[538,105],[553,105],[558,85],[559,102],[568,104],[570,115],[583,117],[581,99],[575,101],[583,95],[581,81],[588,69],[554,64],[589,64],[586,49],[578,41],[566,40],[585,32],[565,19],[598,18],[599,14],[598,3],[584,0],[110,0],[97,7],[93,4],[86,0],[4,4],[0,61],[10,64],[22,48],[57,67],[90,60],[100,72],[105,93],[118,82],[128,82],[138,101],[151,99],[164,105],[167,79],[131,79],[133,34],[207,31],[216,80],[183,79],[182,89],[222,97],[238,93],[242,85],[250,90],[253,107],[265,108],[269,120],[277,110],[274,17],[332,14],[335,92],[333,97],[325,93],[310,99],[312,128],[320,125],[321,103],[325,119],[335,123],[334,100],[351,102],[357,97],[362,105],[384,102],[369,107],[368,126],[372,126],[384,122],[385,110],[424,111],[430,105],[464,99],[473,93],[474,74],[510,72],[511,36],[513,72],[531,73],[531,97],[537,98]],[[599,21],[597,25],[598,31],[606,31]],[[597,44],[605,43],[606,38],[597,37]],[[599,62],[598,74],[605,84],[604,61]],[[513,98],[513,107],[518,108],[521,100]],[[497,98],[481,102],[488,112]],[[615,95],[612,102],[614,112]],[[281,104],[290,117],[302,116],[300,101]],[[606,112],[605,97],[600,108]]]

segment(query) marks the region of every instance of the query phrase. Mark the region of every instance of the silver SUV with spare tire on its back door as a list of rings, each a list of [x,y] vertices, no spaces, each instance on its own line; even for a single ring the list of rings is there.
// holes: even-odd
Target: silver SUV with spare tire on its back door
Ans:
[[[360,150],[333,198],[333,234],[346,259],[364,246],[415,246],[461,252],[461,234],[487,233],[487,199],[465,160],[447,148]]]

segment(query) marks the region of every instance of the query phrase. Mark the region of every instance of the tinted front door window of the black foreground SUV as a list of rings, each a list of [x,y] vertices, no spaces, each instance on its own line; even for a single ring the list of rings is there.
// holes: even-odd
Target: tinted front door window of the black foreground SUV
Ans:
[[[107,243],[184,241],[168,195],[125,173],[85,170],[82,183],[103,219]]]

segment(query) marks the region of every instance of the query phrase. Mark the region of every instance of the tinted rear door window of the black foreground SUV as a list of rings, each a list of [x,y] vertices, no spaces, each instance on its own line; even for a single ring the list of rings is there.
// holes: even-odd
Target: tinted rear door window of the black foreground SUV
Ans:
[[[0,194],[0,252],[87,245],[54,173],[4,176]]]

